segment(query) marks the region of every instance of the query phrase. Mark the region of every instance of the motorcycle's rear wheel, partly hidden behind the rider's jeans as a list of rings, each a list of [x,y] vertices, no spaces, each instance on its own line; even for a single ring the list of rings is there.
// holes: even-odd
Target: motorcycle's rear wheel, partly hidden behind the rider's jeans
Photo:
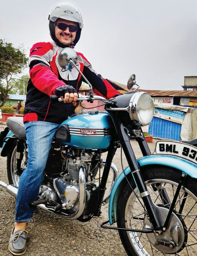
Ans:
[[[7,154],[7,177],[9,184],[13,184],[16,187],[18,187],[18,182],[20,175],[16,173],[15,169],[17,166],[17,159],[16,159],[16,143],[17,140],[14,140],[12,145],[9,148],[8,154]],[[26,145],[24,144],[24,153],[26,150]],[[24,170],[26,168],[26,160],[25,160],[25,154],[23,153],[23,159],[21,163],[21,169]]]

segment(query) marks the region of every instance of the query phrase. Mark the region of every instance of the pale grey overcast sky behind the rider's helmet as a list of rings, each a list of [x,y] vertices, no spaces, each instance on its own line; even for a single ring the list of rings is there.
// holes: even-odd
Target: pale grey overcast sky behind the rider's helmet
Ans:
[[[0,39],[25,48],[51,41],[48,15],[58,2],[2,0]],[[72,2],[84,20],[75,50],[104,78],[127,84],[135,73],[141,89],[183,90],[184,76],[197,75],[196,0]]]

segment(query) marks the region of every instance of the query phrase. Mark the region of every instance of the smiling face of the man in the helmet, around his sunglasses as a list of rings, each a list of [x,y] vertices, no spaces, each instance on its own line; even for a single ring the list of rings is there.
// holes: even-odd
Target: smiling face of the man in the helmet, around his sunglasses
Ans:
[[[73,25],[77,27],[75,22],[66,20],[66,19],[57,19],[56,23],[65,23],[67,25]],[[61,44],[64,44],[64,45],[72,44],[72,42],[76,37],[76,33],[77,33],[76,31],[70,32],[68,27],[66,28],[66,30],[62,31],[57,26],[55,26],[55,37]]]

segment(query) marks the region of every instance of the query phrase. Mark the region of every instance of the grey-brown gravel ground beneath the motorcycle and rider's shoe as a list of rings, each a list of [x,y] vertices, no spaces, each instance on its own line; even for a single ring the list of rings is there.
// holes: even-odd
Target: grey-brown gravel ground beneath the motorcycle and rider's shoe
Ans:
[[[0,132],[3,126],[0,125]],[[156,140],[148,143],[154,151]],[[137,158],[141,157],[136,141],[132,147]],[[103,159],[106,154],[103,154]],[[113,163],[121,172],[120,149]],[[127,166],[123,155],[123,165]],[[8,183],[6,173],[6,157],[0,156],[0,180]],[[100,228],[100,224],[108,220],[108,204],[102,207],[101,218],[92,218],[89,222],[65,220],[42,209],[36,208],[33,219],[28,222],[28,245],[25,255],[59,256],[59,255],[127,255],[119,238],[118,231]],[[14,225],[15,199],[0,187],[0,255],[12,255],[8,251],[10,232]]]

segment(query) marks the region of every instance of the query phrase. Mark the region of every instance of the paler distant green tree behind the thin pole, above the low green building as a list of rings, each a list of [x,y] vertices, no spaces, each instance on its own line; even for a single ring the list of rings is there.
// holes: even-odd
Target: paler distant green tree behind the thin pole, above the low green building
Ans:
[[[25,77],[25,95],[27,92],[27,82],[30,79],[29,75],[22,76],[19,79],[15,79],[10,81],[10,86],[12,89],[10,89],[9,94],[22,94],[23,95],[23,77]]]

